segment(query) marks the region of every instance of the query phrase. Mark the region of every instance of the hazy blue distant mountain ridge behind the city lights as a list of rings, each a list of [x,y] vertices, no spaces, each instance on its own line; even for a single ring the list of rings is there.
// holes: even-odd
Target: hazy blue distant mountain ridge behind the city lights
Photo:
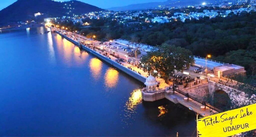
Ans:
[[[186,6],[186,5],[201,4],[203,2],[213,3],[215,2],[215,0],[167,0],[166,2],[151,2],[151,3],[142,3],[142,4],[131,4],[131,5],[122,6],[122,7],[112,7],[112,8],[109,8],[108,10],[114,10],[114,11],[140,10],[140,9],[155,8],[159,5]]]

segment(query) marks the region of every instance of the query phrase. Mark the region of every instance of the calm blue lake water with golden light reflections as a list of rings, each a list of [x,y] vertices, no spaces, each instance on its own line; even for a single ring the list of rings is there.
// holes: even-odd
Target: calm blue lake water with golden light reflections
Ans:
[[[0,136],[193,135],[194,112],[44,31],[0,33]]]

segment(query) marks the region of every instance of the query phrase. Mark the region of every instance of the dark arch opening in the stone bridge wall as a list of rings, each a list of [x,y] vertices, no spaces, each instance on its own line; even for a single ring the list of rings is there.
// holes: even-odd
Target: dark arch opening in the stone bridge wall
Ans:
[[[213,104],[215,107],[226,111],[230,110],[231,100],[229,95],[225,91],[218,89],[213,94]]]

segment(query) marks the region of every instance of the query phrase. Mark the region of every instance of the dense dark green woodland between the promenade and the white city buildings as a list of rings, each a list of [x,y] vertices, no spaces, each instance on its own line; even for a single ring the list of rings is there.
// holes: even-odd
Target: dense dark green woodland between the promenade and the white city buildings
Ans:
[[[185,23],[172,21],[131,35],[136,34],[148,45],[168,43],[189,49],[194,55],[211,54],[217,56],[216,60],[245,66],[248,74],[251,74],[251,64],[256,61],[256,52],[250,50],[256,46],[255,21],[255,12],[242,13],[226,18],[192,19]],[[242,50],[244,53],[237,50]],[[234,53],[235,51],[237,52]],[[238,56],[235,56],[237,54]]]

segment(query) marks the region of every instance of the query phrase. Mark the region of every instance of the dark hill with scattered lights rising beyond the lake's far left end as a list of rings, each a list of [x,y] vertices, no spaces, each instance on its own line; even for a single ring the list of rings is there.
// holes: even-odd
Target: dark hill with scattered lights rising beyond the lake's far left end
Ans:
[[[0,25],[10,22],[34,19],[35,13],[44,17],[72,16],[103,10],[80,1],[55,2],[52,0],[18,0],[0,11]]]

